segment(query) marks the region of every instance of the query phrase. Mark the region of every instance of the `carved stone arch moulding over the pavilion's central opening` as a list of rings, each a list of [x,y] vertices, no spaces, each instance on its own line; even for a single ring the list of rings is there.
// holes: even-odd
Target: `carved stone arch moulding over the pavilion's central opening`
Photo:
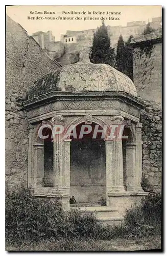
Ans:
[[[72,122],[70,122],[67,125],[67,128],[65,129],[66,136],[65,136],[64,140],[70,139],[70,133],[71,133],[71,131],[69,129],[70,126],[76,127],[77,125],[79,125],[81,123],[91,124],[92,122],[99,124],[101,127],[105,126],[107,128],[106,135],[107,135],[107,133],[110,132],[108,124],[103,119],[101,119],[100,117],[97,117],[97,116],[85,115],[85,116],[81,116],[81,117],[74,119]]]

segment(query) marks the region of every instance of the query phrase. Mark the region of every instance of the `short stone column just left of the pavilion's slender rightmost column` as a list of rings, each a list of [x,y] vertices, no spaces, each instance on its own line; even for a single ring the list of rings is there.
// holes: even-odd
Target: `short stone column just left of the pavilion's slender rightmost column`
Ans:
[[[136,186],[136,144],[126,144],[126,187],[127,191],[134,191]]]

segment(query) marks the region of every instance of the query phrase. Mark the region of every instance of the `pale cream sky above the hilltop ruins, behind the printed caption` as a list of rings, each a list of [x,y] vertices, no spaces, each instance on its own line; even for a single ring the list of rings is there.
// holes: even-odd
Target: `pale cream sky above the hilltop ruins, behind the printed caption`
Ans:
[[[44,14],[44,11],[52,12],[52,14]],[[151,22],[153,17],[161,16],[161,6],[7,6],[6,12],[29,35],[37,31],[47,32],[52,30],[55,40],[60,41],[60,35],[65,34],[66,30],[96,29],[102,24],[101,18],[107,18],[105,25],[109,26],[126,26],[127,22],[138,20],[144,20],[146,23]],[[66,14],[65,12],[80,12],[80,14]],[[81,14],[82,12],[86,12],[86,14]],[[93,14],[93,12],[105,12],[105,14]],[[107,14],[107,12],[121,14],[112,15]],[[29,19],[29,17],[41,17],[42,19]],[[56,17],[59,17],[59,19],[57,20]],[[60,17],[74,17],[74,19],[60,20]],[[109,20],[109,17],[119,19]],[[86,20],[83,20],[84,18]],[[90,18],[99,19],[90,20]]]

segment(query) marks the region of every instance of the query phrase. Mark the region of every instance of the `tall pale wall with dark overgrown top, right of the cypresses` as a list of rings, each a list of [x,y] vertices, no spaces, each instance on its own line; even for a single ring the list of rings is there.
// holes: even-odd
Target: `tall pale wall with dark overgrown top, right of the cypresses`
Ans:
[[[140,42],[133,49],[133,82],[138,96],[161,102],[162,45],[154,40]]]

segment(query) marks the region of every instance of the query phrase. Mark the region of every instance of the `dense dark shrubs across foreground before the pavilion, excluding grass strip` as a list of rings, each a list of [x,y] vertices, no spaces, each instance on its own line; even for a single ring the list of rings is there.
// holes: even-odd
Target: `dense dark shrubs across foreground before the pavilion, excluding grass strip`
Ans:
[[[139,206],[127,210],[125,221],[121,225],[104,226],[93,214],[89,215],[86,211],[63,211],[58,199],[33,197],[30,188],[20,188],[13,190],[12,193],[6,193],[8,246],[52,239],[77,241],[141,238],[160,232],[160,194],[150,193]],[[64,248],[72,247],[70,244],[64,245]]]

